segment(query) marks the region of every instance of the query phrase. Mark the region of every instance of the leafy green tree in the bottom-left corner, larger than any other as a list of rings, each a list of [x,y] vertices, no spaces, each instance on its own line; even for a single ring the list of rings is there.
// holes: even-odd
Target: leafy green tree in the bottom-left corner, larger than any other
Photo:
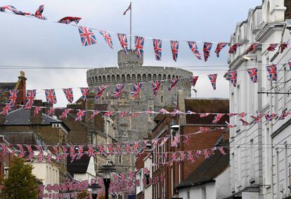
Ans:
[[[32,174],[32,169],[32,165],[22,158],[15,158],[8,169],[8,177],[1,181],[1,198],[37,198],[39,184],[37,177]]]

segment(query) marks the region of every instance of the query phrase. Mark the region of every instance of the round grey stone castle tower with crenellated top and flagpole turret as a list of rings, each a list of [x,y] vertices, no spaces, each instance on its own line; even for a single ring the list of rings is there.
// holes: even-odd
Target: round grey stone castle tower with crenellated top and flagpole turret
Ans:
[[[87,83],[91,90],[96,86],[106,85],[108,88],[100,101],[96,103],[108,103],[111,110],[121,112],[137,112],[144,110],[160,110],[161,108],[176,105],[177,91],[183,90],[186,97],[190,97],[190,79],[192,72],[180,68],[143,66],[143,57],[138,58],[135,51],[129,51],[127,55],[123,51],[118,52],[118,67],[95,68],[87,71]],[[157,96],[153,96],[150,86],[152,80],[182,78],[173,91],[169,91],[170,82],[162,82]],[[141,94],[132,100],[130,91],[136,82],[146,82],[141,88]],[[124,93],[118,100],[112,98],[115,84],[124,84]],[[113,118],[115,125],[115,139],[117,141],[132,142],[148,137],[155,123],[153,115],[141,114],[130,118],[116,116]],[[123,158],[123,160],[122,160]],[[124,155],[115,160],[115,165],[120,172],[128,172],[135,167],[135,158]]]

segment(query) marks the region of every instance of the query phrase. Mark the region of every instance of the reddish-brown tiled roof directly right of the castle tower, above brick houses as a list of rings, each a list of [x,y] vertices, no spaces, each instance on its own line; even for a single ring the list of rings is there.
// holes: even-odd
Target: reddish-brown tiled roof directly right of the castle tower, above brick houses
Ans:
[[[229,100],[226,98],[186,98],[185,110],[195,113],[229,113]],[[187,124],[211,124],[215,115],[200,117],[200,115],[186,115]],[[224,115],[218,124],[225,124],[228,115]]]

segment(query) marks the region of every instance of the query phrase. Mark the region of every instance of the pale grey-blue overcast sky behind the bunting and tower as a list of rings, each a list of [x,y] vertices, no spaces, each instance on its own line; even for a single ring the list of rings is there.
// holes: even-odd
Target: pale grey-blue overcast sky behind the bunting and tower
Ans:
[[[50,21],[65,16],[81,17],[79,25],[108,30],[113,37],[114,49],[106,46],[96,33],[98,44],[82,46],[77,27],[47,22],[20,15],[0,13],[0,65],[58,66],[100,68],[117,66],[120,49],[116,32],[129,34],[129,15],[122,13],[129,6],[127,0],[2,0],[0,6],[11,4],[20,11],[34,13],[44,4],[43,15]],[[235,25],[247,18],[250,8],[261,5],[261,0],[133,0],[133,34],[144,37],[183,41],[228,41]],[[207,65],[226,65],[226,49],[221,57],[214,56],[205,63],[193,56],[185,42],[180,42],[179,56],[172,60],[169,41],[162,41],[162,60],[155,61],[153,41],[145,39],[144,65],[181,67],[196,75],[202,75],[196,89],[198,97],[228,97],[228,82],[223,78],[227,66],[210,68]],[[198,44],[202,52],[202,44]],[[203,67],[195,67],[204,65]],[[207,70],[205,70],[207,69]],[[225,71],[221,71],[224,69]],[[19,69],[0,68],[0,82],[15,82]],[[218,72],[216,91],[212,90],[207,74]],[[58,89],[58,106],[64,106],[65,96],[61,88],[87,86],[86,70],[25,70],[27,89]],[[37,94],[44,99],[44,91]]]

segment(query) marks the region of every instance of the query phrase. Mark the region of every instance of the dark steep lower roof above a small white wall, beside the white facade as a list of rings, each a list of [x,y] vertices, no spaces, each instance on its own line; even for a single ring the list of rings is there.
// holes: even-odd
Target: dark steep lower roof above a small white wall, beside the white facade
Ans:
[[[216,176],[221,174],[229,164],[229,150],[224,148],[226,155],[222,155],[216,150],[214,155],[205,159],[187,178],[182,181],[177,189],[187,188],[214,181]]]

